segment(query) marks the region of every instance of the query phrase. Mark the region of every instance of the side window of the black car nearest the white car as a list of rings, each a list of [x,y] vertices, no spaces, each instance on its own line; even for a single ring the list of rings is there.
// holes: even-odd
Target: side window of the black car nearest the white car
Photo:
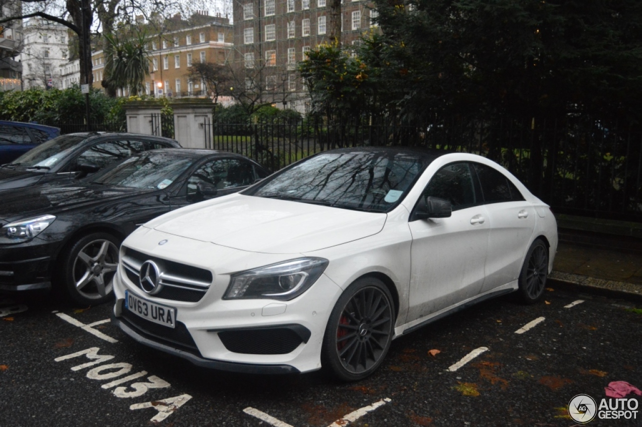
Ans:
[[[236,159],[207,162],[187,180],[187,195],[196,193],[199,182],[207,182],[217,189],[248,186],[254,182],[252,164]]]

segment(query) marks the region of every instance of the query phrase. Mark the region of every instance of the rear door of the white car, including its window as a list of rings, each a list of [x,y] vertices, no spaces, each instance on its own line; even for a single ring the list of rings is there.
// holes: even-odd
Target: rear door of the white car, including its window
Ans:
[[[482,292],[486,292],[519,277],[535,229],[536,213],[501,171],[479,163],[473,163],[473,167],[480,180],[490,225],[486,281],[482,286]]]

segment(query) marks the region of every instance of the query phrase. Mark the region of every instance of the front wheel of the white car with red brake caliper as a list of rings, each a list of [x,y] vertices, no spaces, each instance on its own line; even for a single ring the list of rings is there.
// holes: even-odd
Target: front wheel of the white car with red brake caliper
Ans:
[[[342,381],[366,378],[383,362],[394,334],[394,305],[379,279],[363,277],[336,302],[325,327],[322,366]]]

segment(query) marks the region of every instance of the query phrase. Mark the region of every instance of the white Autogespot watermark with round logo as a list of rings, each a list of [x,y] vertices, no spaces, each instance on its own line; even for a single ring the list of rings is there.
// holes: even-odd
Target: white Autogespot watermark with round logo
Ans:
[[[568,403],[568,415],[579,424],[598,419],[638,419],[638,399],[602,399],[600,405],[588,394],[578,394]]]

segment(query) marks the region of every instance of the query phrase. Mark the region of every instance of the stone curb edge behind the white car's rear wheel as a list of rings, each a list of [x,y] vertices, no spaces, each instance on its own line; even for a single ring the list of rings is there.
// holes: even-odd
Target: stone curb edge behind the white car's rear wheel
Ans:
[[[642,302],[642,286],[607,279],[595,279],[581,274],[553,271],[548,279],[560,287],[576,292],[594,293],[604,297]]]

